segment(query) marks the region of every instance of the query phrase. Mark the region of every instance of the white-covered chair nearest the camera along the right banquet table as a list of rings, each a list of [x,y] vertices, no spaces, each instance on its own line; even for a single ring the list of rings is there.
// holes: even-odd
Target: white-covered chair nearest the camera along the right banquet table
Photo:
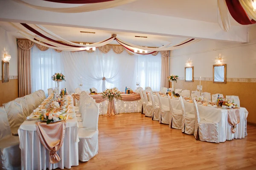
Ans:
[[[200,117],[198,106],[193,99],[195,109],[195,133],[196,140],[219,143],[218,123],[209,122]]]

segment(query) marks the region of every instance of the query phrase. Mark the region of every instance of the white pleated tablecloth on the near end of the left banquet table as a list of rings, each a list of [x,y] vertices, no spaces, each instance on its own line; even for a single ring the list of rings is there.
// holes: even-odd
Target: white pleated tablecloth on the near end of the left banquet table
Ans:
[[[73,104],[73,102],[72,102]],[[71,113],[72,114],[72,113]],[[37,120],[36,120],[37,121]],[[49,162],[49,153],[40,142],[36,131],[36,121],[24,121],[18,130],[21,149],[21,167],[23,170],[49,170],[55,168],[71,168],[79,165],[78,153],[78,123],[76,117],[66,121],[64,142],[57,151],[61,160],[58,163]]]

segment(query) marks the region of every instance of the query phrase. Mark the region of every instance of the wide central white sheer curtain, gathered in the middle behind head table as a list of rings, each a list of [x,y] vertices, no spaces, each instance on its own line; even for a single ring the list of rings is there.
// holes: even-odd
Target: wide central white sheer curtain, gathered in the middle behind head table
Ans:
[[[137,56],[126,52],[116,54],[111,49],[102,53],[95,52],[61,52],[68,89],[77,88],[82,81],[83,90],[95,87],[98,92],[106,88],[117,87],[124,91],[125,86],[136,88]],[[81,78],[82,77],[82,78]],[[105,80],[102,80],[105,77]]]

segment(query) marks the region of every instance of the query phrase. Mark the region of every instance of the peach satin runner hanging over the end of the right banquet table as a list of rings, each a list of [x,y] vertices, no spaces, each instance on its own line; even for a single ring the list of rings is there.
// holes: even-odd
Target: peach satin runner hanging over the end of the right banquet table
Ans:
[[[240,122],[240,109],[227,109],[227,121],[231,125],[232,133],[236,133],[236,124]]]

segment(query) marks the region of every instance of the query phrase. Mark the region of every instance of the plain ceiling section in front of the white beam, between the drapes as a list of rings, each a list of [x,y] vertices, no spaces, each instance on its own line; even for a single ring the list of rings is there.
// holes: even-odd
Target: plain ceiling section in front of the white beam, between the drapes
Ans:
[[[137,0],[116,9],[218,23],[217,0]],[[232,17],[230,22],[241,26]]]

